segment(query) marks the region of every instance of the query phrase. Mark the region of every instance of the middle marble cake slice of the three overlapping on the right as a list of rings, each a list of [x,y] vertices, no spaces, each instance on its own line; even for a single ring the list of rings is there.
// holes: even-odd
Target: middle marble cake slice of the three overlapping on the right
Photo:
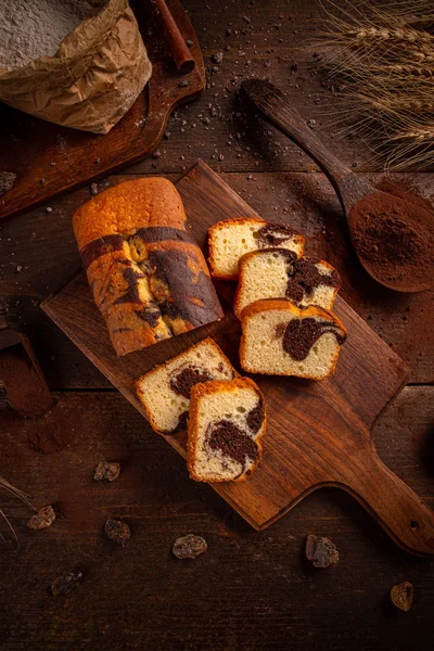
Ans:
[[[239,263],[233,311],[240,318],[246,305],[260,298],[286,297],[299,307],[333,307],[341,286],[340,275],[329,263],[297,258],[286,248],[263,248],[243,255]]]

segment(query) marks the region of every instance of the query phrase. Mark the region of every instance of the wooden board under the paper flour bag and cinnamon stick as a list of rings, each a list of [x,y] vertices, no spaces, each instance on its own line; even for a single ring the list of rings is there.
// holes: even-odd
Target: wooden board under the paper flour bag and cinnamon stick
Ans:
[[[153,72],[123,119],[105,136],[52,125],[0,103],[0,171],[16,174],[0,195],[0,219],[44,203],[77,186],[144,158],[163,137],[174,108],[205,88],[205,68],[194,29],[179,0],[167,0],[195,67],[181,74],[152,24],[144,0],[131,3]],[[181,81],[187,81],[180,87]]]

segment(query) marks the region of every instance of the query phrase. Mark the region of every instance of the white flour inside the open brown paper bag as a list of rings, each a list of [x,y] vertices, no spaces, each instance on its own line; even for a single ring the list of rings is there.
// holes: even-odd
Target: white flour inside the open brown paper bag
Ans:
[[[52,56],[92,8],[92,0],[0,0],[0,68]]]

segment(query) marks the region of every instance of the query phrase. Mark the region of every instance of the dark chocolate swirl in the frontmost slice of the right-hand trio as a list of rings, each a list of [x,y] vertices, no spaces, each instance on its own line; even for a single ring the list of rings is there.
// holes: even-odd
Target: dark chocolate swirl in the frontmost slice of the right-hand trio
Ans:
[[[346,334],[333,323],[307,317],[292,319],[288,324],[280,323],[276,335],[282,337],[282,347],[296,361],[303,361],[310,348],[326,332],[333,332],[340,345],[345,342]]]

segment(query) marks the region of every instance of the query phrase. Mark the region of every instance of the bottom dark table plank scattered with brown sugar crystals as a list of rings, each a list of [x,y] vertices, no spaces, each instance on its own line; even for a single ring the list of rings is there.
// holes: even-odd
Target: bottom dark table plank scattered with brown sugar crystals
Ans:
[[[29,511],[0,495],[22,544],[18,552],[10,544],[0,554],[2,649],[202,651],[215,649],[216,639],[229,651],[289,643],[321,651],[426,649],[434,635],[433,567],[399,551],[349,496],[322,490],[272,528],[253,532],[208,487],[188,480],[182,459],[122,396],[55,398],[43,421],[0,409],[3,474],[59,514],[49,529],[30,532]],[[434,387],[404,390],[381,417],[375,439],[383,461],[434,506],[426,455],[433,399]],[[41,430],[47,436],[66,431],[67,446],[50,455],[29,447]],[[120,461],[115,483],[92,481],[101,459]],[[125,549],[104,537],[108,515],[131,527]],[[4,524],[1,531],[7,535]],[[204,535],[208,551],[177,561],[171,544],[188,532]],[[336,542],[334,571],[303,560],[309,533]],[[53,598],[51,582],[74,566],[84,570],[82,585],[66,599]],[[387,599],[400,580],[416,589],[407,615]]]

